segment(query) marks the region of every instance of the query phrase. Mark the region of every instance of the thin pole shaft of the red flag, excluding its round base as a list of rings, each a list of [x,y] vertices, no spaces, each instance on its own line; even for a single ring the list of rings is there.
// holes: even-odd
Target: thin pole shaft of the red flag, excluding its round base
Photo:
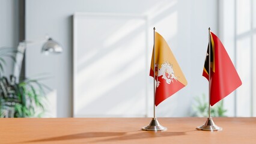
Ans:
[[[210,85],[210,79],[211,79],[211,28],[209,27],[209,118],[211,117],[211,85]]]

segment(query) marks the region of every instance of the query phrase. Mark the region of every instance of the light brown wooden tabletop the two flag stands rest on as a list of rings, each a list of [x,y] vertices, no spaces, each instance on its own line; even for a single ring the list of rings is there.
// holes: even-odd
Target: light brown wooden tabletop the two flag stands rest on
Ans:
[[[198,131],[206,118],[1,118],[0,143],[256,143],[256,118],[213,118],[223,131]]]

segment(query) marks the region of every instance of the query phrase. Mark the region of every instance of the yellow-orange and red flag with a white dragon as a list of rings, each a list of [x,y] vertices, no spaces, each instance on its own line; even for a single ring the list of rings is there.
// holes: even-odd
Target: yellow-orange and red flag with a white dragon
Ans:
[[[155,104],[179,91],[187,85],[187,80],[182,73],[178,62],[171,52],[168,44],[162,35],[155,32],[155,55],[154,49],[151,58],[150,76],[156,80]],[[154,64],[155,63],[155,64]],[[154,73],[155,69],[155,73]]]

